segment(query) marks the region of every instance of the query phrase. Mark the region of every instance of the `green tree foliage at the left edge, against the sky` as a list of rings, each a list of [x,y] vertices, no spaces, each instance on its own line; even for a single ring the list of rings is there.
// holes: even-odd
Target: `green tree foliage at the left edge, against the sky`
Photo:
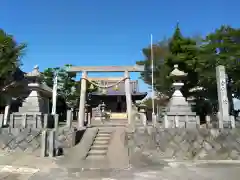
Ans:
[[[19,66],[25,48],[26,44],[18,44],[13,36],[0,29],[0,92],[22,74]]]

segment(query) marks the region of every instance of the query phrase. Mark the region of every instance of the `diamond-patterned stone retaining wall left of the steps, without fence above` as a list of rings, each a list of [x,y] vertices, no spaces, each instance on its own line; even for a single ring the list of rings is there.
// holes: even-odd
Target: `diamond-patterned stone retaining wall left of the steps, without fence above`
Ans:
[[[46,136],[43,137],[43,132]],[[52,137],[51,132],[55,132]],[[36,156],[55,156],[79,142],[82,133],[75,128],[36,129],[36,128],[0,128],[0,154],[23,152]],[[44,138],[44,139],[43,139]],[[46,142],[45,145],[43,143]],[[59,154],[59,149],[61,153]],[[41,154],[41,152],[45,154]],[[52,152],[50,152],[52,151]]]

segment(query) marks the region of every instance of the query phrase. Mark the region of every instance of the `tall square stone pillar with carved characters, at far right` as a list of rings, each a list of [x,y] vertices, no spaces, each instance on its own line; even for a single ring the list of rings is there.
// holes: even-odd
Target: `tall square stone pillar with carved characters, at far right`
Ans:
[[[216,67],[218,107],[219,107],[219,128],[224,128],[224,124],[229,124],[229,103],[226,86],[226,73],[224,66]],[[225,123],[226,122],[226,123]]]

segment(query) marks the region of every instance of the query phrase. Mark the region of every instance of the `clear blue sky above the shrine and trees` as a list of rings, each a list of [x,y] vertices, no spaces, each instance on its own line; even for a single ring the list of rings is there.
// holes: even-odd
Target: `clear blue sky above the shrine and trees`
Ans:
[[[240,27],[238,7],[238,0],[1,0],[0,28],[28,44],[24,71],[36,64],[41,70],[66,63],[134,65],[151,33],[161,40],[177,22],[187,36],[222,24]]]

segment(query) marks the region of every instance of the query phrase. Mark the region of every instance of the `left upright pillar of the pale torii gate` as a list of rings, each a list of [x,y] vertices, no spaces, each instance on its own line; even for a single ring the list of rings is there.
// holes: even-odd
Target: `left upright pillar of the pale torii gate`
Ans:
[[[81,79],[81,93],[80,93],[80,103],[79,103],[79,113],[78,113],[78,128],[81,129],[84,126],[85,119],[85,101],[86,101],[86,90],[87,90],[87,72],[82,72]]]

